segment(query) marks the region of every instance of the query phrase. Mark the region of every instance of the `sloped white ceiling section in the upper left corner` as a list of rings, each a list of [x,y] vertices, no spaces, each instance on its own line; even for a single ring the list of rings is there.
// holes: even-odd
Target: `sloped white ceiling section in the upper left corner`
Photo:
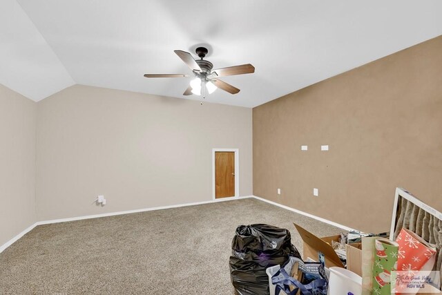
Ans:
[[[0,84],[35,101],[75,84],[15,0],[0,1]]]

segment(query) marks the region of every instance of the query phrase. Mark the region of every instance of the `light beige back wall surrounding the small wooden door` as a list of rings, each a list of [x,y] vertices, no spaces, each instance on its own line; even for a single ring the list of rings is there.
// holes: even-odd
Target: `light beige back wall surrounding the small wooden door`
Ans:
[[[37,109],[39,220],[211,200],[213,148],[240,150],[251,195],[250,108],[77,85]]]

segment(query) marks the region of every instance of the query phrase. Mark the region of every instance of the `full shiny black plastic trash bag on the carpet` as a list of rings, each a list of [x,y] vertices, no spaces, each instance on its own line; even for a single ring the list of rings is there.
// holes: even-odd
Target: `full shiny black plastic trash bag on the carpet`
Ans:
[[[237,227],[229,259],[231,282],[237,294],[269,294],[269,277],[265,270],[283,265],[289,255],[301,259],[298,250],[291,245],[288,229],[264,224]]]

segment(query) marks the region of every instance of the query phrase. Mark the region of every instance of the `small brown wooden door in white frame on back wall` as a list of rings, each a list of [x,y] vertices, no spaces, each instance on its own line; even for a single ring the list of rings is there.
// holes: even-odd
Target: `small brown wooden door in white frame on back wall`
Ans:
[[[235,152],[215,151],[215,198],[235,196]]]

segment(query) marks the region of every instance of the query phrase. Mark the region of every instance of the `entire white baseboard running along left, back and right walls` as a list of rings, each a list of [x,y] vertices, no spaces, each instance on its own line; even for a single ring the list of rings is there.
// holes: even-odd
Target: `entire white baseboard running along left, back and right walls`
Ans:
[[[14,238],[8,240],[5,244],[0,246],[0,253],[3,252],[6,248],[8,248],[10,245],[12,245],[14,242],[19,240],[22,236],[27,234],[29,231],[34,229],[34,227],[37,227],[37,225],[49,225],[51,223],[59,223],[59,222],[68,222],[68,221],[75,221],[75,220],[84,220],[84,219],[90,219],[90,218],[100,218],[100,217],[107,217],[107,216],[117,216],[117,215],[123,215],[123,214],[130,214],[130,213],[138,213],[138,212],[146,212],[146,211],[154,211],[154,210],[162,210],[162,209],[170,209],[170,208],[178,208],[178,207],[186,207],[186,206],[195,206],[200,204],[210,204],[214,202],[224,202],[224,201],[231,201],[231,200],[240,200],[240,199],[247,199],[247,198],[256,198],[257,200],[261,200],[263,202],[267,202],[269,204],[276,205],[278,207],[281,207],[283,209],[287,209],[290,211],[293,211],[295,213],[301,214],[303,216],[307,216],[309,218],[314,218],[316,220],[319,220],[321,222],[327,223],[329,225],[333,225],[334,227],[339,227],[341,229],[345,229],[346,231],[352,230],[349,227],[346,227],[345,225],[340,225],[339,223],[320,218],[318,216],[314,216],[313,214],[306,213],[304,211],[300,211],[294,208],[287,207],[282,204],[278,204],[277,202],[272,202],[270,200],[266,200],[264,198],[260,198],[257,196],[243,196],[243,197],[231,197],[231,198],[221,198],[221,199],[215,199],[215,200],[207,200],[202,202],[192,202],[192,203],[184,203],[184,204],[175,204],[175,205],[169,205],[169,206],[160,206],[160,207],[152,207],[152,208],[145,208],[145,209],[136,209],[136,210],[128,210],[128,211],[118,211],[118,212],[111,212],[111,213],[102,213],[102,214],[95,214],[95,215],[88,215],[88,216],[77,216],[77,217],[71,217],[71,218],[61,218],[61,219],[53,219],[53,220],[44,220],[44,221],[37,221],[24,231],[21,231],[20,234],[15,236]]]

